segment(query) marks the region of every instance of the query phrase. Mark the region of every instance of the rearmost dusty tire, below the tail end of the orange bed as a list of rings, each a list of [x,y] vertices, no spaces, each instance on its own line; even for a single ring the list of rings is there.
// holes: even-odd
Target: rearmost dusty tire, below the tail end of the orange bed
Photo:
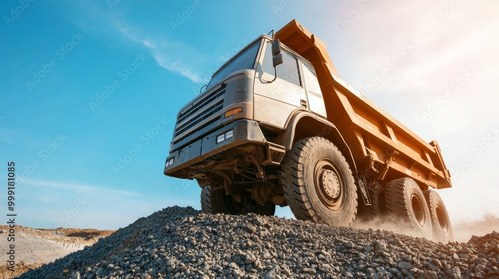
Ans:
[[[447,208],[445,208],[444,201],[434,190],[423,191],[423,194],[430,209],[433,241],[439,241],[444,244],[454,241],[451,219],[449,218],[449,213],[447,213]]]

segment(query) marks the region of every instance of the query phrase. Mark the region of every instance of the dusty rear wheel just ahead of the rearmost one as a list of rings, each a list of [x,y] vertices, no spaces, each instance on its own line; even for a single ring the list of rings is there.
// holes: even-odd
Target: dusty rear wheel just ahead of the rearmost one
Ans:
[[[387,213],[393,215],[395,222],[405,223],[414,232],[431,238],[430,210],[423,191],[412,178],[396,179],[388,183],[385,202]]]

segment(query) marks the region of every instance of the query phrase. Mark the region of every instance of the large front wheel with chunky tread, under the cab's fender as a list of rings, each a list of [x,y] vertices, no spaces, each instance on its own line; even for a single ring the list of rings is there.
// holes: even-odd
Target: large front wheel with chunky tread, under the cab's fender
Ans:
[[[327,139],[312,137],[294,143],[282,159],[281,181],[296,219],[333,226],[351,226],[355,220],[357,186],[352,171]]]

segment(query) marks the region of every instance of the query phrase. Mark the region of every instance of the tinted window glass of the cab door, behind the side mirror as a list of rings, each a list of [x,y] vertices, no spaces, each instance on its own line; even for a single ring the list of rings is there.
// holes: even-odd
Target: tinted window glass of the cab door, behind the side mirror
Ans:
[[[277,65],[277,78],[286,80],[297,86],[300,84],[300,76],[298,75],[298,63],[296,57],[282,50],[283,63]],[[263,72],[274,75],[274,67],[272,66],[272,48],[271,43],[267,43],[267,48],[265,50],[265,55],[263,57],[262,64]]]

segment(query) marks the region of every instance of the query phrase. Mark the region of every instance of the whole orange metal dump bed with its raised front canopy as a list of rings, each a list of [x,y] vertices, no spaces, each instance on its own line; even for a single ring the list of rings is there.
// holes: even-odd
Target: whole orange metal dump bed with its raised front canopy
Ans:
[[[350,147],[359,172],[376,180],[411,177],[424,186],[452,187],[437,142],[425,142],[343,81],[320,39],[296,20],[277,31],[275,38],[314,66],[327,118]]]

